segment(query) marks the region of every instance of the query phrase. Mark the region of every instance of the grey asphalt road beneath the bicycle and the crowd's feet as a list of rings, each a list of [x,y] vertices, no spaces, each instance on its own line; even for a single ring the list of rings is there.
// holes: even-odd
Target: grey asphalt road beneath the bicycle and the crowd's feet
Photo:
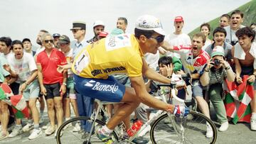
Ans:
[[[45,125],[48,122],[47,113],[44,113],[44,118],[46,121],[41,125]],[[211,118],[213,121],[216,120],[215,113],[213,109],[211,109]],[[218,123],[215,122],[216,126],[219,127]],[[52,144],[56,143],[54,135],[45,136],[45,134],[41,134],[38,138],[34,140],[28,140],[28,135],[30,133],[21,133],[21,135],[16,136],[15,138],[6,138],[5,140],[1,140],[1,144]],[[159,133],[159,137],[161,137],[161,133]],[[196,136],[196,135],[195,135]],[[149,138],[149,133],[145,135],[146,138]],[[71,143],[71,142],[70,142]],[[151,142],[149,142],[151,143]],[[252,144],[256,143],[256,131],[250,131],[250,123],[238,123],[233,125],[230,123],[228,131],[218,132],[218,138],[216,143],[242,143],[242,144]]]

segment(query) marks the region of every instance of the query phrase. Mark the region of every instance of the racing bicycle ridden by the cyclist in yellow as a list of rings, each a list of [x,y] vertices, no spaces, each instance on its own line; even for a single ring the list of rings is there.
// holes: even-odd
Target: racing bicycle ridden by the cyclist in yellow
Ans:
[[[184,79],[184,78],[183,78]],[[193,104],[190,101],[185,101],[176,96],[176,82],[171,82],[171,84],[159,84],[158,87],[170,87],[171,92],[169,92],[169,97],[176,99],[187,106]],[[166,94],[160,94],[161,100],[167,102]],[[102,143],[100,139],[95,135],[95,131],[98,128],[105,125],[105,122],[100,120],[100,111],[103,111],[104,116],[107,117],[107,112],[104,109],[105,104],[120,104],[113,102],[105,102],[100,100],[97,101],[98,107],[97,111],[92,114],[91,117],[76,117],[68,121],[65,121],[60,128],[58,128],[56,140],[58,144],[64,143]],[[170,101],[170,99],[169,99]],[[92,128],[90,130],[87,138],[81,138],[78,133],[73,133],[73,128],[66,128],[72,123],[77,123],[78,121],[87,121],[92,123]],[[167,121],[167,122],[166,122]],[[124,124],[119,124],[112,133],[112,140],[115,143],[133,143],[132,140],[137,138],[139,133],[142,133],[144,128],[151,125],[150,139],[151,143],[215,143],[217,139],[217,129],[213,121],[210,118],[204,116],[202,113],[191,110],[188,116],[184,118],[178,118],[174,114],[166,111],[157,111],[154,116],[151,116],[149,121],[143,124],[142,128],[137,131],[132,137],[124,138],[125,127]],[[210,127],[213,131],[212,138],[206,138],[206,131]]]

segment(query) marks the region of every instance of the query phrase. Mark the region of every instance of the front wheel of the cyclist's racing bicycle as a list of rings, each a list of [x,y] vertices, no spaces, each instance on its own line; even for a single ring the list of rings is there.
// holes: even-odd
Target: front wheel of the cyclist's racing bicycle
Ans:
[[[169,118],[168,114],[160,116],[154,121],[150,130],[150,139],[153,144],[156,143],[215,143],[217,139],[217,129],[213,121],[206,117],[202,113],[197,111],[191,111],[186,118],[176,118],[176,123],[164,123],[166,118]],[[182,119],[182,120],[181,120]],[[182,126],[177,124],[183,121]],[[167,121],[168,122],[168,121]],[[206,122],[209,123],[213,130],[213,138],[206,138]],[[182,127],[182,128],[181,128]],[[176,129],[176,131],[175,131]],[[184,133],[179,131],[183,129]]]

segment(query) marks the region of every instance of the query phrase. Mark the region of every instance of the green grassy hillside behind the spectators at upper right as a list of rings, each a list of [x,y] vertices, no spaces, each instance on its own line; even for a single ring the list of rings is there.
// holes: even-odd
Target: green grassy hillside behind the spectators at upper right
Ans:
[[[240,6],[238,9],[244,13],[244,20],[243,20],[242,25],[250,26],[251,23],[256,23],[256,0],[252,0],[252,1],[248,2],[247,4]],[[231,13],[232,13],[232,11],[230,11],[228,14],[230,15]],[[220,20],[220,17],[215,18],[212,21],[208,22],[210,24],[210,28],[211,28],[210,39],[213,38],[212,32],[216,27],[218,27],[219,20]],[[194,33],[197,33],[198,31],[200,31],[199,26],[198,26],[198,28],[191,31],[191,33],[189,33],[188,35],[191,37]]]

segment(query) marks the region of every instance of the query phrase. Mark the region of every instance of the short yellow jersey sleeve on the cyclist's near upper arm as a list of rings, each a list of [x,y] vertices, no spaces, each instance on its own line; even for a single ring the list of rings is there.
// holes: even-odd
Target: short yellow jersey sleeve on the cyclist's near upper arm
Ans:
[[[139,77],[142,75],[142,57],[134,55],[127,62],[127,74],[129,77]]]

